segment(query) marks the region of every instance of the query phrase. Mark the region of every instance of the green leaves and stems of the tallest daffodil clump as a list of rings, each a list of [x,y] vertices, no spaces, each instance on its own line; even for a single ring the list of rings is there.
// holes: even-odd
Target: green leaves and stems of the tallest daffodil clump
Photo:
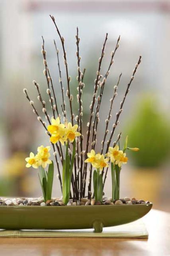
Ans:
[[[68,142],[66,142],[66,151],[65,151],[65,159],[63,161],[63,202],[67,204],[70,199],[70,186],[72,179],[72,169],[74,165],[74,158],[76,154],[76,140],[74,139],[72,150],[72,157],[70,160],[70,156],[68,154]]]

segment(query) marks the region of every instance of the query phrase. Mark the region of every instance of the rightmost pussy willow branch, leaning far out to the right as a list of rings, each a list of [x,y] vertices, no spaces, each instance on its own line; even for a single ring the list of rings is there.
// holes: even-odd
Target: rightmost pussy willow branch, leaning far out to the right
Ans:
[[[111,132],[111,135],[110,135],[109,140],[107,141],[106,153],[107,153],[107,151],[108,151],[108,149],[109,149],[109,145],[110,145],[110,143],[111,143],[111,139],[112,139],[113,134],[114,134],[114,132],[115,132],[115,128],[116,128],[117,124],[119,124],[119,121],[118,121],[118,120],[119,120],[119,116],[120,116],[121,112],[123,111],[123,104],[124,104],[124,102],[125,102],[125,99],[126,99],[126,96],[127,96],[128,92],[129,92],[129,88],[130,88],[130,86],[131,86],[131,83],[132,83],[133,79],[135,78],[134,76],[135,76],[135,73],[137,72],[137,68],[138,68],[138,66],[139,66],[140,63],[141,63],[141,56],[139,57],[139,60],[138,60],[137,64],[135,65],[135,69],[133,70],[133,74],[132,74],[132,76],[131,76],[131,80],[130,80],[129,84],[127,85],[127,89],[126,89],[126,92],[125,92],[125,96],[123,97],[123,101],[122,101],[121,104],[120,104],[119,112],[116,114],[116,120],[115,120],[115,123],[113,124],[113,130],[112,130],[112,132]]]

